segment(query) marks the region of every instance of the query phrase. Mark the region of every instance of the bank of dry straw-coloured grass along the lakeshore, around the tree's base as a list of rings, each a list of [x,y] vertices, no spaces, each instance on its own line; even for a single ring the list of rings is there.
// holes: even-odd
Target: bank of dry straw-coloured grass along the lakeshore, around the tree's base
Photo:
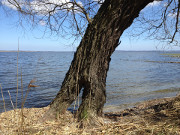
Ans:
[[[16,109],[0,114],[0,134],[132,134],[180,135],[180,96],[146,101],[122,112],[105,113],[97,127],[78,128],[73,114],[40,122],[48,107]]]

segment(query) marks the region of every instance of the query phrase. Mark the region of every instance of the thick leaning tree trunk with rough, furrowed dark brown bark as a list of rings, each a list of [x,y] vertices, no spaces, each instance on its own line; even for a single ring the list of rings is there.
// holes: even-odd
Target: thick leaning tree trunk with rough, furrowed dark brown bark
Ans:
[[[153,0],[105,0],[81,40],[61,90],[50,104],[49,112],[61,114],[83,89],[79,119],[101,116],[106,102],[106,76],[111,55],[119,38]]]

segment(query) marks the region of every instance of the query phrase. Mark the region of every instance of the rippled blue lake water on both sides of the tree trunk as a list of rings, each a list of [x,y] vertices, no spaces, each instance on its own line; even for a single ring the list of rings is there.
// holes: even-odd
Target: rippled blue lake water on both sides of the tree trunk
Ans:
[[[107,77],[107,103],[104,111],[118,111],[132,107],[144,100],[175,96],[180,92],[180,64],[148,61],[180,61],[180,58],[166,57],[162,53],[174,52],[122,52],[116,51],[110,63]],[[175,52],[180,53],[180,52]],[[21,76],[23,94],[29,82],[36,78],[25,107],[48,105],[60,89],[61,83],[73,58],[73,52],[20,52],[19,87]],[[22,75],[21,75],[22,73]],[[6,109],[16,105],[17,53],[0,52],[0,84],[6,102]],[[21,106],[21,89],[18,107]],[[3,100],[0,96],[0,112]]]

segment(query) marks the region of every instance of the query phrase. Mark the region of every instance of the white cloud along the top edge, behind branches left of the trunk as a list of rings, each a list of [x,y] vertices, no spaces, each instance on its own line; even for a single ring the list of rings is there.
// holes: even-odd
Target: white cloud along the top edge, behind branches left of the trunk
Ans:
[[[2,0],[3,4],[7,7],[17,10],[15,0]],[[10,1],[10,3],[9,3]],[[39,16],[44,16],[49,14],[50,11],[51,14],[57,13],[59,10],[61,11],[67,11],[68,9],[71,9],[72,1],[71,0],[16,0],[22,9],[25,9],[31,13],[36,13]],[[103,1],[103,0],[100,0]],[[81,1],[77,2],[80,6],[83,7],[83,3]],[[58,7],[56,7],[58,5]],[[56,9],[55,9],[56,8]],[[79,13],[81,12],[81,9],[78,6],[74,7],[75,12]],[[72,9],[71,9],[72,10]]]

